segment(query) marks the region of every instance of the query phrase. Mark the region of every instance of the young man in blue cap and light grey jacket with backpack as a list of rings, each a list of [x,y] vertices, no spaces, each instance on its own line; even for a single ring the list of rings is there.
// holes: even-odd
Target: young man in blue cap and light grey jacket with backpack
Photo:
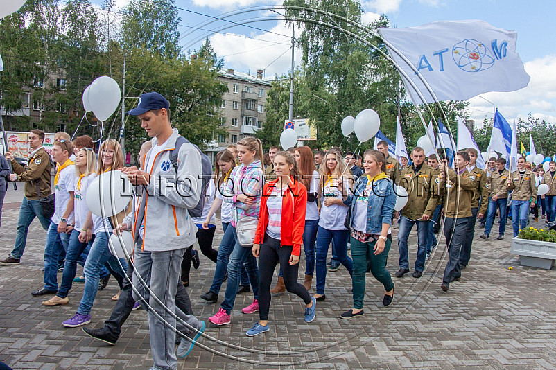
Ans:
[[[144,159],[144,170],[125,169],[132,184],[142,192],[134,225],[133,283],[141,293],[139,296],[134,292],[134,299],[145,309],[148,307],[142,298],[148,299],[155,311],[148,313],[150,350],[155,363],[151,369],[176,368],[174,327],[187,336],[177,349],[180,357],[191,351],[205,331],[203,321],[175,307],[184,252],[196,240],[197,227],[188,209],[193,209],[199,201],[202,169],[200,153],[189,142],[180,146],[177,168],[171,163],[180,134],[172,129],[169,107],[164,96],[151,92],[142,94],[139,105],[127,113],[137,116],[141,127],[154,138],[153,148]],[[150,294],[141,281],[148,285]],[[175,319],[174,312],[180,320]]]

